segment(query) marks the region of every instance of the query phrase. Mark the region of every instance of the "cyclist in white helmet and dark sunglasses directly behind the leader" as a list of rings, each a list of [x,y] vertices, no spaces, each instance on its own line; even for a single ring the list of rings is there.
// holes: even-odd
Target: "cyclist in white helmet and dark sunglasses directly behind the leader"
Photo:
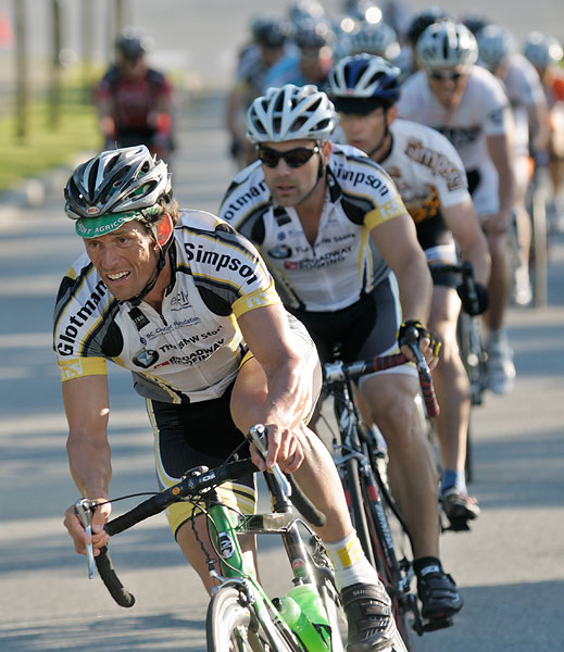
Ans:
[[[423,326],[431,279],[415,226],[376,163],[331,143],[336,120],[333,103],[314,86],[271,88],[254,100],[248,133],[259,161],[235,177],[220,215],[256,244],[284,304],[306,326],[323,362],[333,359],[335,344],[349,362],[399,348],[408,353],[404,335],[415,328],[434,365],[437,348]],[[438,482],[414,403],[417,389],[411,365],[359,383],[387,438],[423,616],[443,619],[462,599],[439,561]]]

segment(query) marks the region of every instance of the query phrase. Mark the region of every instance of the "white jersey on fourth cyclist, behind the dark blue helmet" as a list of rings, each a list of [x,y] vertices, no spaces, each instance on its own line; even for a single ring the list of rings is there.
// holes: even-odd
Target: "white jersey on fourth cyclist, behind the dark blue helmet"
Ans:
[[[487,137],[511,134],[513,129],[501,83],[488,71],[474,66],[459,105],[448,110],[431,91],[425,71],[417,71],[402,87],[398,111],[400,117],[428,125],[452,142],[466,173],[478,175],[479,184],[472,192],[477,212],[496,213],[498,174],[488,153]]]

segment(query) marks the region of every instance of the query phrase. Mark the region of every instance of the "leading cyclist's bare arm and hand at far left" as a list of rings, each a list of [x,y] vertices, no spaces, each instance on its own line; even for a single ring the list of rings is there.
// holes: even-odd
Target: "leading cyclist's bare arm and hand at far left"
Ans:
[[[109,393],[106,376],[85,376],[63,383],[63,402],[68,423],[66,451],[73,479],[85,498],[105,500],[112,467],[108,442]],[[110,504],[96,510],[92,543],[100,548],[108,541],[102,527],[110,516]],[[76,551],[84,554],[89,542],[73,507],[65,512],[65,526]],[[95,552],[96,554],[96,552]]]

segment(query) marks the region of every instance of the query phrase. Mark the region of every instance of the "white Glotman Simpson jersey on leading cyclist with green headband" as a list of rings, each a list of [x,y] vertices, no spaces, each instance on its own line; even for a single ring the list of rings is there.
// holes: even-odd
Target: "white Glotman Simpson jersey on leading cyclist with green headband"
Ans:
[[[225,222],[184,211],[170,250],[172,279],[162,310],[135,308],[108,291],[84,253],[62,280],[54,350],[62,380],[128,368],[136,391],[166,403],[221,397],[247,346],[237,317],[279,303],[255,248]]]

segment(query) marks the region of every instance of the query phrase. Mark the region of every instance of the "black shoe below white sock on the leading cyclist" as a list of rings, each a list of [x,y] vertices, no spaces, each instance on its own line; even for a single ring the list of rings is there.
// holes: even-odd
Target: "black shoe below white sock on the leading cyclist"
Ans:
[[[391,647],[397,629],[390,599],[381,584],[344,587],[341,600],[349,624],[347,652],[376,652]]]

